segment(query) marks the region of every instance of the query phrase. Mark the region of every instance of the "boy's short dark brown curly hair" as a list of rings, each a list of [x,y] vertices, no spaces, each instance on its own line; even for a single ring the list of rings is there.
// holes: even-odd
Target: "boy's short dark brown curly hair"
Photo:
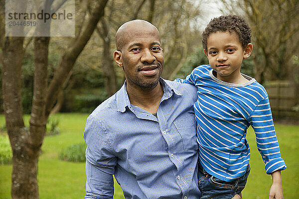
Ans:
[[[251,28],[244,18],[237,15],[225,15],[213,18],[202,33],[202,47],[207,51],[207,39],[215,32],[236,32],[242,47],[251,42]]]

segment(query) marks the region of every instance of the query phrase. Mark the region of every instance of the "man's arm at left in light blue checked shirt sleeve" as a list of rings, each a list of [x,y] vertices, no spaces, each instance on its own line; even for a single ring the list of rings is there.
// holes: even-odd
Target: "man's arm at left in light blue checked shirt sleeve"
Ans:
[[[100,120],[93,116],[87,118],[83,136],[87,144],[85,199],[113,199],[113,174],[117,160],[108,133]]]

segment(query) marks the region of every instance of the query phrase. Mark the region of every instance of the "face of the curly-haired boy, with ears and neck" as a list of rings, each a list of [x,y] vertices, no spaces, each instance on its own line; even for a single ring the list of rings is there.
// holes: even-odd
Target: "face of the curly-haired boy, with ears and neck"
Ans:
[[[241,64],[244,58],[248,58],[252,51],[252,44],[243,49],[238,35],[235,32],[215,32],[207,39],[207,52],[205,55],[209,64],[217,72],[219,80],[231,83],[240,82]]]

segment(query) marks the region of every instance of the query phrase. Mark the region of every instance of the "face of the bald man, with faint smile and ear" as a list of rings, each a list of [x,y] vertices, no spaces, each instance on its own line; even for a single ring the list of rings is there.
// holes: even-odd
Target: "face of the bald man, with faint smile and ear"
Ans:
[[[155,87],[163,68],[160,36],[153,27],[127,27],[123,35],[120,67],[123,67],[127,85],[142,88]]]

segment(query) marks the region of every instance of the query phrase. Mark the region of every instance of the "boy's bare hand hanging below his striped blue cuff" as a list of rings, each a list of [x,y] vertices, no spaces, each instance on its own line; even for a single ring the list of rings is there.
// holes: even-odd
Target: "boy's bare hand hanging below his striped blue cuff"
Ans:
[[[281,172],[275,171],[271,175],[273,183],[270,188],[269,199],[284,199]]]

